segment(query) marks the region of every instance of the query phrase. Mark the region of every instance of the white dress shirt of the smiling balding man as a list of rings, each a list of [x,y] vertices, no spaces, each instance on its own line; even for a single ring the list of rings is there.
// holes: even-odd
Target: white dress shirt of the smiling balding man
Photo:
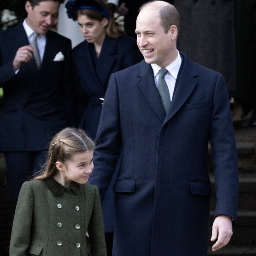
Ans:
[[[177,52],[178,52],[178,56],[177,56],[176,60],[174,60],[171,64],[169,64],[169,66],[166,67],[168,72],[165,75],[165,80],[166,80],[166,83],[167,83],[167,86],[169,89],[171,101],[173,99],[173,91],[174,91],[177,75],[178,75],[178,72],[181,67],[181,56],[180,56],[180,53],[178,50],[177,50]],[[157,82],[158,82],[158,78],[160,75],[161,67],[159,67],[157,64],[151,64],[151,67],[152,67],[153,73],[154,73],[154,82],[157,87]]]

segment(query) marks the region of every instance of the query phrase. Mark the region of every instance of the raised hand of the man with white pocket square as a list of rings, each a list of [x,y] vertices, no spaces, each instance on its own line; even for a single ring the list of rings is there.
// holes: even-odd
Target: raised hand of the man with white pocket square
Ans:
[[[18,49],[14,60],[13,60],[13,69],[14,71],[19,69],[21,67],[21,65],[23,64],[23,62],[28,63],[30,62],[30,60],[33,59],[33,53],[35,49],[32,48],[31,45],[25,45],[21,48]]]

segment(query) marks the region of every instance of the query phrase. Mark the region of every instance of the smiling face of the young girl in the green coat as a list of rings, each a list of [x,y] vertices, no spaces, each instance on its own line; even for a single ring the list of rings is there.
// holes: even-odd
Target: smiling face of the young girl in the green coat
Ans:
[[[69,186],[72,181],[85,184],[93,170],[93,151],[74,154],[71,161],[62,166],[60,177],[64,181],[64,186]]]

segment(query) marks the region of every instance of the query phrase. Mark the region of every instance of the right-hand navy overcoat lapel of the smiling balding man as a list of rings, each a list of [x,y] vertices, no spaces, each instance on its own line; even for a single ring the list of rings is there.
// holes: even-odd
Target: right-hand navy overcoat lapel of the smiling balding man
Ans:
[[[178,73],[177,81],[174,88],[173,99],[169,112],[166,115],[165,123],[173,117],[175,113],[184,105],[196,87],[197,81],[194,77],[197,76],[197,71],[194,63],[187,56],[181,53],[182,64]]]

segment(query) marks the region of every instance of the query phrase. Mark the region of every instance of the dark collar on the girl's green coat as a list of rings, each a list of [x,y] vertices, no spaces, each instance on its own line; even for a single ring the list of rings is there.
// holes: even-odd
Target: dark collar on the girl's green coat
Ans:
[[[73,191],[76,195],[80,193],[80,184],[76,183],[75,181],[72,181],[69,187],[64,187],[62,186],[59,182],[55,181],[53,177],[48,177],[43,179],[45,186],[53,193],[55,196],[60,196],[63,191],[66,190],[71,190]]]

